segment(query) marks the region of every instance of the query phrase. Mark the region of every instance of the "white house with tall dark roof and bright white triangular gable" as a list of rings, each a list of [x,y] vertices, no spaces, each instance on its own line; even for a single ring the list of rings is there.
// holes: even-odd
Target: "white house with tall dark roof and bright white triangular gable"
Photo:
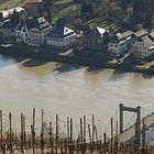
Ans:
[[[61,18],[47,34],[46,44],[57,47],[69,47],[76,42],[76,33],[66,26],[66,20]]]

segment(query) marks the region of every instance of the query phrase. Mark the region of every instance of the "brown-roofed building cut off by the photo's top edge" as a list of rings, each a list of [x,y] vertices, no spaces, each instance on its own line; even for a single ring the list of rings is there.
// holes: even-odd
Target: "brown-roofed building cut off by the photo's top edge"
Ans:
[[[42,0],[25,0],[24,9],[29,16],[42,16],[44,2]]]

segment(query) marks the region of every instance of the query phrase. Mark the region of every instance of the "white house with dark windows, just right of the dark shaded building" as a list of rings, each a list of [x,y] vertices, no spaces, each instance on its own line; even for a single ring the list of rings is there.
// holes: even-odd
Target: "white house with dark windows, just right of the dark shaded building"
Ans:
[[[118,33],[117,35],[110,36],[108,50],[112,54],[123,53],[130,50],[133,43],[134,43],[134,35],[132,31]]]

